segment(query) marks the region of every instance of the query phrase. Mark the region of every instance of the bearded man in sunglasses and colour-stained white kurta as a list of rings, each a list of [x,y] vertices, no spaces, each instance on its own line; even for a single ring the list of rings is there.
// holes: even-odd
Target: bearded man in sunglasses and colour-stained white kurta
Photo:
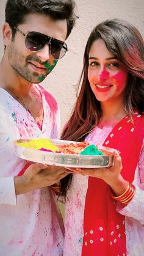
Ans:
[[[56,139],[59,108],[38,85],[67,52],[73,0],[7,0],[0,63],[0,254],[59,256],[63,225],[51,185],[62,168],[15,156],[13,141]]]

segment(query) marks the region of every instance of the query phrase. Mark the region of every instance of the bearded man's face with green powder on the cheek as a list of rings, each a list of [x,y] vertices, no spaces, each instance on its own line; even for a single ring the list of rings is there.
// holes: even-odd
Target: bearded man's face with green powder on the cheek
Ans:
[[[25,22],[18,25],[18,28],[26,34],[35,31],[61,41],[65,41],[67,37],[66,20],[54,21],[49,16],[36,13],[27,15]],[[25,38],[16,31],[15,38],[9,45],[9,64],[16,75],[37,84],[46,78],[57,64],[57,60],[52,57],[47,44],[40,51],[29,51],[25,45]]]

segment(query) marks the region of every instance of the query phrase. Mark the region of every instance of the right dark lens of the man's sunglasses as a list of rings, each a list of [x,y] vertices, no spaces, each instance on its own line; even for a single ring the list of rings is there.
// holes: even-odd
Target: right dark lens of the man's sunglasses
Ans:
[[[62,57],[65,55],[66,51],[67,51],[67,45],[66,43],[63,42],[57,42],[56,41],[52,41],[51,42],[51,54],[54,57],[54,59],[62,59]]]

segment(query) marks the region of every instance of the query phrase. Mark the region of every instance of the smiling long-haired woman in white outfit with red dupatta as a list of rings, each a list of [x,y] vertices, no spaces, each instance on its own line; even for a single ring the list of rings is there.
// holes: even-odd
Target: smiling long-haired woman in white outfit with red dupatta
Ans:
[[[112,167],[69,169],[74,175],[61,181],[64,255],[144,254],[143,71],[143,39],[134,26],[114,19],[93,29],[62,139],[117,150]]]

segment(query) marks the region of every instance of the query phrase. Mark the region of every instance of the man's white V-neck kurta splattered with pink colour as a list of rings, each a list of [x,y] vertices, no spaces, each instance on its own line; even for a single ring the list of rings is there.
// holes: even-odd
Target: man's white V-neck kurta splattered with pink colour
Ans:
[[[56,139],[60,128],[56,100],[37,86],[43,101],[42,129],[32,115],[0,88],[0,255],[61,256],[63,224],[50,188],[15,196],[13,177],[26,161],[13,152],[13,140]]]

